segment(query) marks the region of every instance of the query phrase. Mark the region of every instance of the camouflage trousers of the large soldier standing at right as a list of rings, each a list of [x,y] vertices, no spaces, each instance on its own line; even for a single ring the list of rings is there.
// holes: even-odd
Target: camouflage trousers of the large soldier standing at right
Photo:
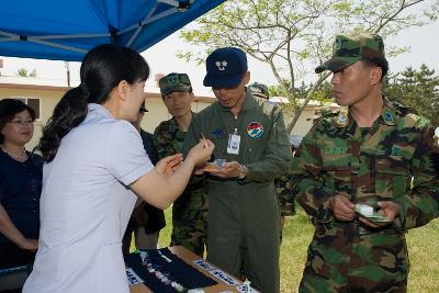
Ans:
[[[404,234],[317,225],[299,292],[406,292],[408,268]]]

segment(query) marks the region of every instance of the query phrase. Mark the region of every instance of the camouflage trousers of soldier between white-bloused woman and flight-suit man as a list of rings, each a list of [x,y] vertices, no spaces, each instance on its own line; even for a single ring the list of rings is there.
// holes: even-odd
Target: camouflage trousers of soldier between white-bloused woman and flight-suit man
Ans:
[[[207,195],[202,189],[184,192],[172,205],[171,246],[204,256],[207,246]]]

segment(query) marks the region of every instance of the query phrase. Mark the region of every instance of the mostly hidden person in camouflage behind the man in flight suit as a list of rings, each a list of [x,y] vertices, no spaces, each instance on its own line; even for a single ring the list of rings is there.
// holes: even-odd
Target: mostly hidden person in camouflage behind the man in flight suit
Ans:
[[[254,97],[262,98],[266,100],[270,99],[270,92],[268,87],[260,82],[252,82],[248,86]],[[283,174],[281,178],[274,180],[275,193],[278,194],[279,209],[281,210],[281,240],[282,240],[282,228],[285,225],[285,216],[292,216],[295,214],[294,206],[294,193],[292,184],[292,174]]]

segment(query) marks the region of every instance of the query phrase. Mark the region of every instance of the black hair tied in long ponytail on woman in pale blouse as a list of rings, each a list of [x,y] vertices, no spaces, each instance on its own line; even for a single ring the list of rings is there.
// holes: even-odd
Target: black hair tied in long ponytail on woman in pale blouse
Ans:
[[[100,45],[91,49],[81,64],[81,83],[66,92],[43,129],[36,148],[44,161],[55,158],[63,137],[86,119],[88,103],[104,103],[122,80],[133,84],[148,76],[149,67],[145,59],[130,48]]]

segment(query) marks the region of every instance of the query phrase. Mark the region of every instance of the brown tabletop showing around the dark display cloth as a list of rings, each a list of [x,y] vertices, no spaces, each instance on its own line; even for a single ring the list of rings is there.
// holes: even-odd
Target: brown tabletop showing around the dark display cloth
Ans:
[[[184,260],[187,263],[189,263],[190,266],[195,268],[198,271],[202,272],[203,274],[205,274],[205,275],[207,275],[207,277],[210,277],[210,278],[212,278],[212,279],[214,279],[215,281],[218,282],[216,285],[209,286],[209,288],[203,288],[204,292],[206,292],[206,293],[214,293],[214,292],[221,292],[221,291],[238,292],[235,288],[225,284],[219,279],[217,279],[214,275],[210,274],[207,271],[205,271],[205,270],[199,268],[198,266],[195,266],[193,263],[193,261],[196,260],[196,259],[200,259],[200,257],[194,255],[194,253],[192,253],[191,251],[189,251],[184,247],[182,247],[182,246],[173,246],[173,247],[169,247],[169,250],[171,250],[172,253],[177,255],[179,258]],[[215,266],[213,266],[213,267],[215,267]],[[239,284],[241,284],[241,282],[239,282]],[[145,284],[138,284],[138,285],[130,286],[130,292],[131,293],[151,293],[153,291],[150,291]]]

